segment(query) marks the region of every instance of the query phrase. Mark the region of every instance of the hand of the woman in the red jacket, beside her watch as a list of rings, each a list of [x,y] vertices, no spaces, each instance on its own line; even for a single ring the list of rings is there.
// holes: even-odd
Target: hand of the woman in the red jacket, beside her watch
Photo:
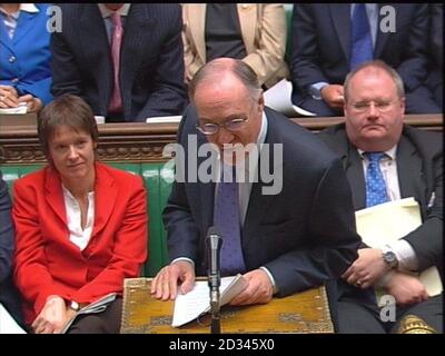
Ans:
[[[57,334],[69,318],[63,298],[50,296],[31,327],[36,334]]]

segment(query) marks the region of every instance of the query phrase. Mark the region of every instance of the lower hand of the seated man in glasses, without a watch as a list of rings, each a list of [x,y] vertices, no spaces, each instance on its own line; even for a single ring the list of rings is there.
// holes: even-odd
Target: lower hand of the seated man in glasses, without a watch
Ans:
[[[403,273],[395,273],[386,283],[385,289],[399,305],[409,305],[428,299],[425,286],[415,277]]]

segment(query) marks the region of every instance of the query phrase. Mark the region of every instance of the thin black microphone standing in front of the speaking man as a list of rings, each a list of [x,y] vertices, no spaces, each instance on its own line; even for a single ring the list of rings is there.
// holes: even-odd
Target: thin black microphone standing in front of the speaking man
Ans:
[[[222,239],[218,234],[218,230],[211,226],[207,231],[207,251],[208,251],[208,286],[210,289],[210,310],[211,310],[211,334],[220,334],[220,320],[219,320],[219,286],[221,285],[221,273],[219,256],[221,251]]]

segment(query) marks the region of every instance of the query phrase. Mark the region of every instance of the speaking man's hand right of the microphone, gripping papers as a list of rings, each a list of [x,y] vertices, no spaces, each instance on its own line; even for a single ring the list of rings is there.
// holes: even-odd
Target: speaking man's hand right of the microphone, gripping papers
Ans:
[[[230,305],[251,305],[269,303],[274,296],[270,278],[263,269],[251,270],[243,276],[247,287],[231,299]]]

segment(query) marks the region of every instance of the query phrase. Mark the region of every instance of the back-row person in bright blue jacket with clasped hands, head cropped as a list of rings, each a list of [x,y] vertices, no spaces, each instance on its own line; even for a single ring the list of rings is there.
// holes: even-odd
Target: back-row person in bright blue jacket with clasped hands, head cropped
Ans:
[[[50,92],[49,4],[0,3],[0,109],[37,112]]]

